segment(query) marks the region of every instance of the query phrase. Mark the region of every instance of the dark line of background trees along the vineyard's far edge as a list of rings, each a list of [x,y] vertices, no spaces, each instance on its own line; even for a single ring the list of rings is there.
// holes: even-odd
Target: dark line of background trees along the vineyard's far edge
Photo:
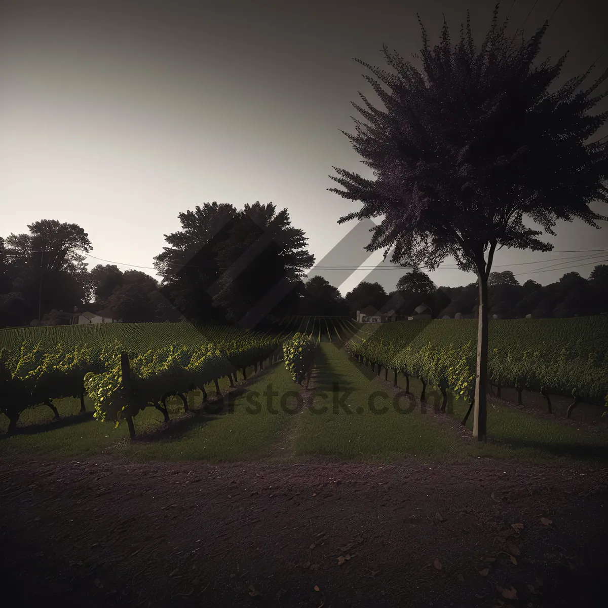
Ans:
[[[88,234],[77,224],[41,220],[29,233],[0,237],[0,327],[61,325],[63,314],[111,311],[123,322],[207,322],[243,319],[257,303],[260,315],[350,316],[372,306],[402,317],[425,303],[432,316],[476,316],[477,282],[439,287],[427,274],[410,271],[395,290],[363,281],[343,296],[336,286],[305,269],[314,263],[302,230],[291,226],[286,209],[259,202],[238,212],[225,204],[206,203],[179,214],[178,232],[165,235],[168,246],[154,260],[163,280],[115,264],[90,270],[83,253],[92,250]],[[264,302],[285,281],[276,301]],[[599,264],[589,279],[567,272],[555,283],[523,284],[513,272],[491,272],[489,313],[514,319],[573,317],[608,312],[608,265]]]

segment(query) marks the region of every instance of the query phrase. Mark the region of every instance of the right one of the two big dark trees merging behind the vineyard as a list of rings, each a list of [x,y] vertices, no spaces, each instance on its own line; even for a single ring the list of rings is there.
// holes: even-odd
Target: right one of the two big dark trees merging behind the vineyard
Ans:
[[[228,320],[254,327],[264,317],[296,314],[305,269],[314,264],[303,230],[287,209],[272,203],[245,205],[226,240],[216,246],[220,278],[213,305]]]

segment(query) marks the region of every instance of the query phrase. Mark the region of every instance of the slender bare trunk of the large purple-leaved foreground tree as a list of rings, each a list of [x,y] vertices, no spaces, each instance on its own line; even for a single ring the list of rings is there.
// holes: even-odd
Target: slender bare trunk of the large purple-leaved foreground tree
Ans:
[[[488,275],[496,243],[492,243],[488,263],[477,264],[479,286],[479,308],[477,319],[477,373],[475,378],[475,410],[473,414],[473,437],[485,442],[488,423]]]

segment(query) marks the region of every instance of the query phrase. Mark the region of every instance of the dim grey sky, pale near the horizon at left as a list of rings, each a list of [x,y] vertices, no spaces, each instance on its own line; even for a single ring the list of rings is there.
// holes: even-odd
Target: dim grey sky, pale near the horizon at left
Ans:
[[[341,188],[333,167],[372,177],[340,132],[355,133],[359,92],[383,107],[363,77],[371,72],[354,58],[387,67],[387,44],[410,60],[421,47],[416,13],[435,44],[442,13],[455,41],[469,9],[480,43],[494,4],[2,1],[0,236],[40,219],[76,223],[93,244],[89,268],[116,263],[156,277],[153,257],[167,245],[163,235],[180,229],[179,212],[272,202],[306,232],[318,266],[361,267],[310,275],[343,293],[362,280],[391,291],[406,271],[365,252],[368,224],[337,224],[360,204],[327,190]],[[529,38],[556,8],[538,60],[569,50],[561,84],[608,48],[607,3],[504,0],[499,22],[508,14],[513,32],[525,22]],[[608,52],[590,82],[606,67]],[[608,99],[598,105],[605,109]],[[608,215],[605,207],[592,205]],[[494,269],[542,285],[569,271],[589,277],[608,263],[607,224],[560,221],[546,238],[553,252],[502,249]],[[429,275],[438,286],[476,280],[451,258]]]

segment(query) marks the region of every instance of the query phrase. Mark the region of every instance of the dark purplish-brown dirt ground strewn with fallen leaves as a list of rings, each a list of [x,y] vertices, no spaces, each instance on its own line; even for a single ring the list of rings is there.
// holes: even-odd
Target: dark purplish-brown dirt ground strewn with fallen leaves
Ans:
[[[483,459],[5,462],[0,585],[12,608],[599,606],[607,482]]]

